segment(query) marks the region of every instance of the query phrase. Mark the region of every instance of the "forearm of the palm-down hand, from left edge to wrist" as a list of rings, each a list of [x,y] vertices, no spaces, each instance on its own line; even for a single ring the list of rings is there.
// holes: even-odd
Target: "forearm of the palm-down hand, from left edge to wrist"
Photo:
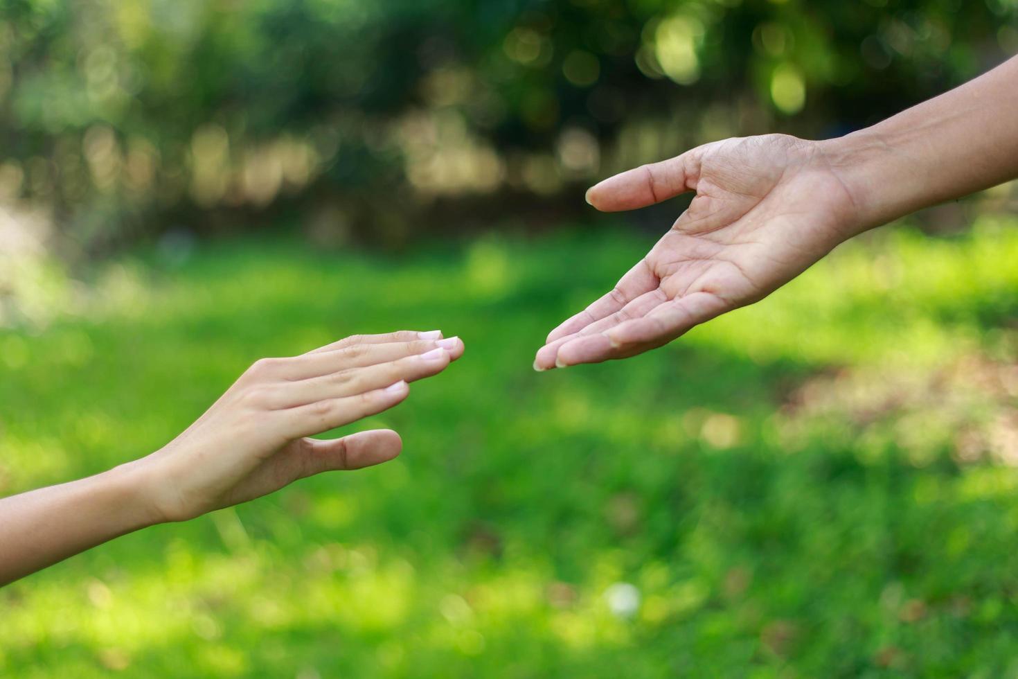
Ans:
[[[144,489],[132,463],[0,500],[0,586],[155,523]]]

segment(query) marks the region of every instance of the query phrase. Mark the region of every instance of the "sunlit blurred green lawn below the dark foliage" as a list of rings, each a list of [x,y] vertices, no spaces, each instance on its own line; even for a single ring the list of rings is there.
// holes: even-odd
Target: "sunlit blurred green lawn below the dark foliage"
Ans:
[[[1016,226],[875,234],[665,349],[540,375],[645,236],[105,267],[87,314],[0,334],[4,494],[158,448],[260,356],[397,328],[467,352],[364,422],[395,462],[0,590],[0,675],[1016,676]]]

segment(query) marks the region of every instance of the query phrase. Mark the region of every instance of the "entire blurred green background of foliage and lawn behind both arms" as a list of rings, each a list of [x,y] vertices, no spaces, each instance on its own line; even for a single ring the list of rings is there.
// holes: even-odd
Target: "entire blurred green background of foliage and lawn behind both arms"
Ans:
[[[590,182],[1016,52],[1013,0],[7,0],[0,494],[151,452],[261,356],[467,352],[358,426],[396,461],[0,590],[0,675],[1018,676],[1014,185],[530,371],[682,209]]]

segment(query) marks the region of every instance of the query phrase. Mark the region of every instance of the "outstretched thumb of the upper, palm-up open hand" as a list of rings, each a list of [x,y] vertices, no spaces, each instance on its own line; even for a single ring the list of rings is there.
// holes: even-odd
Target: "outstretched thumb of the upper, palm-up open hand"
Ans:
[[[635,210],[696,189],[699,149],[609,177],[586,191],[586,202],[602,212]]]

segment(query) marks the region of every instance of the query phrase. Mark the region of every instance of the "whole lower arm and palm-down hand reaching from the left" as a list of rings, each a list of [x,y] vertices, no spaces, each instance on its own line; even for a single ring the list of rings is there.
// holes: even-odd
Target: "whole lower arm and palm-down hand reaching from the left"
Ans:
[[[118,535],[273,493],[304,476],[399,454],[399,435],[314,434],[403,401],[408,382],[463,353],[458,338],[353,337],[250,370],[159,451],[101,474],[0,500],[0,586]]]

